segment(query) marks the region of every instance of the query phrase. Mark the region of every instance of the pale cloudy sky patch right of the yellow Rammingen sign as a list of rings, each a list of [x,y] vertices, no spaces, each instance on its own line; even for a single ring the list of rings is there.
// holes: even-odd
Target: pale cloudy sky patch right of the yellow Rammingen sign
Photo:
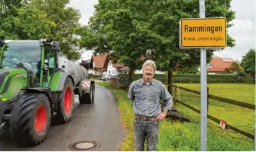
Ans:
[[[242,61],[250,48],[255,48],[255,0],[233,0],[231,9],[236,12],[236,19],[232,21],[233,27],[228,33],[236,40],[234,48],[225,48],[215,55],[223,58],[233,58]]]

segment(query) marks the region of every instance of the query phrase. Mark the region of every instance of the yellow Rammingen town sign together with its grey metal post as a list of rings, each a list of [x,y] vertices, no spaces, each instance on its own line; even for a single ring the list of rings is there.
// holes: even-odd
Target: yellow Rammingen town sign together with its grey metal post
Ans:
[[[206,48],[226,48],[226,18],[206,18],[205,0],[199,0],[200,18],[180,19],[180,49],[200,48],[200,151],[207,151]],[[256,117],[255,117],[256,119]],[[256,149],[256,148],[255,148]]]

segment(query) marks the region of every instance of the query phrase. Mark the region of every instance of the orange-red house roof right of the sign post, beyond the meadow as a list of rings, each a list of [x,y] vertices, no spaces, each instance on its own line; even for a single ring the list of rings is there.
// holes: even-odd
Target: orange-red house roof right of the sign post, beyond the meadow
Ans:
[[[229,67],[234,62],[232,58],[211,58],[211,62],[207,64],[207,73],[231,73]]]

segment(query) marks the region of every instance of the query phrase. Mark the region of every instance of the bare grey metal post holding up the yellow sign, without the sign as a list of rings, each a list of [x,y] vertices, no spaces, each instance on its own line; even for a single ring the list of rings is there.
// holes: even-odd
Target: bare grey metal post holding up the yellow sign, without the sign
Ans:
[[[206,18],[205,0],[199,0],[200,18]],[[200,49],[200,151],[207,151],[206,48]]]

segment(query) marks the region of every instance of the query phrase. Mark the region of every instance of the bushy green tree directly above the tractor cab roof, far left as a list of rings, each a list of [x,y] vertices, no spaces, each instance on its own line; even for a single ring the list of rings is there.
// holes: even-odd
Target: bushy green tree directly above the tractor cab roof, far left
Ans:
[[[50,27],[55,27],[46,14],[35,6],[9,6],[12,14],[0,17],[0,37],[10,40],[40,40],[50,37]]]

